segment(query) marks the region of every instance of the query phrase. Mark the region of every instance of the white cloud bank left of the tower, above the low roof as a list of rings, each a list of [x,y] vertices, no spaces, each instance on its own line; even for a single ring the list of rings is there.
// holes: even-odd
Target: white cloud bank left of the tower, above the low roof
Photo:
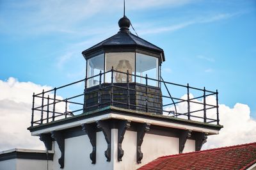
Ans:
[[[32,137],[27,128],[31,121],[33,92],[40,93],[49,86],[33,82],[19,82],[10,77],[0,80],[0,150],[12,148],[44,148],[38,137]]]

